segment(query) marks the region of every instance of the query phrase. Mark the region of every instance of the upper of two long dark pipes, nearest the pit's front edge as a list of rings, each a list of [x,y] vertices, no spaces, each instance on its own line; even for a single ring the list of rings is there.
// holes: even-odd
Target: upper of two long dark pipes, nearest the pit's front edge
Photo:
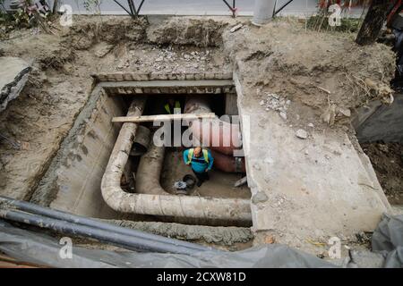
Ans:
[[[3,206],[3,207],[2,207]],[[43,207],[35,204],[31,204],[21,200],[15,200],[13,198],[6,198],[0,196],[0,209],[4,208],[4,206],[8,209],[18,209],[30,214],[39,214],[42,216],[47,216],[49,218],[65,221],[67,223],[76,223],[81,225],[86,225],[89,227],[97,228],[99,230],[110,231],[114,233],[120,233],[123,235],[131,236],[133,238],[139,238],[143,240],[157,241],[166,244],[172,244],[174,246],[182,246],[185,248],[193,248],[199,249],[201,251],[205,250],[214,250],[214,248],[206,248],[198,244],[190,243],[183,240],[173,240],[163,236],[150,234],[147,232],[136,231],[132,229],[127,229],[121,226],[117,226],[110,223],[99,222],[95,219],[90,219],[85,216],[69,214],[62,211],[58,211],[56,209],[51,209],[48,207]]]

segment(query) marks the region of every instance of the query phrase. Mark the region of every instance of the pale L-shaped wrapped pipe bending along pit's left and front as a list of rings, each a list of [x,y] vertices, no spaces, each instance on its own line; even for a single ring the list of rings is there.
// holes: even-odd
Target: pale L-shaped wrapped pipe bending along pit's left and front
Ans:
[[[136,97],[129,109],[128,116],[140,116],[144,103],[144,99]],[[126,122],[116,139],[115,147],[101,182],[102,197],[108,206],[117,212],[130,214],[252,221],[249,199],[183,197],[124,192],[120,186],[120,179],[124,172],[124,165],[127,164],[136,130],[136,123]]]

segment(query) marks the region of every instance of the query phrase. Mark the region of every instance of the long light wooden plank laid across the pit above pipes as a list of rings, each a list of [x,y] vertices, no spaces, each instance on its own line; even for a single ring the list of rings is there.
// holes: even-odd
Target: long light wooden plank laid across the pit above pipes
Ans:
[[[214,119],[216,114],[162,114],[162,115],[146,115],[146,116],[120,116],[114,117],[112,122],[168,122],[171,120],[195,120],[195,119]]]

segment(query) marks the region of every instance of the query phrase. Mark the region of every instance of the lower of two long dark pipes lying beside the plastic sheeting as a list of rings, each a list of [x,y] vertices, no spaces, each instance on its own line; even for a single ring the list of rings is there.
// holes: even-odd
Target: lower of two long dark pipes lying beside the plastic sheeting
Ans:
[[[43,229],[60,232],[66,235],[78,235],[90,239],[95,239],[101,242],[116,245],[117,247],[128,248],[136,251],[156,251],[185,255],[194,255],[201,252],[201,250],[198,249],[184,248],[182,246],[174,246],[172,244],[161,243],[159,241],[135,238],[131,236],[126,236],[122,233],[104,231],[87,225],[68,223],[38,214],[23,213],[21,211],[0,210],[0,218],[4,218],[16,223],[29,224]]]

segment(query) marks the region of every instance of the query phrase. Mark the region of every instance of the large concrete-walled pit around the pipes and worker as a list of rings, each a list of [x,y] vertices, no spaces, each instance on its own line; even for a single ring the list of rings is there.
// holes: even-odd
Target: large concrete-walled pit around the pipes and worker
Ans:
[[[184,83],[186,80],[178,80]],[[193,80],[195,82],[197,80]],[[207,80],[214,83],[214,80]],[[56,209],[89,217],[105,219],[124,227],[137,228],[160,235],[192,240],[200,243],[213,243],[228,249],[242,249],[252,245],[253,234],[251,223],[205,220],[196,218],[161,217],[147,214],[124,214],[116,212],[105,202],[101,195],[101,179],[107,168],[109,156],[116,144],[122,123],[112,122],[116,116],[125,116],[128,106],[136,96],[147,97],[142,115],[164,114],[164,105],[169,98],[177,99],[184,106],[186,98],[192,96],[205,97],[210,103],[211,112],[218,116],[223,114],[236,115],[235,88],[208,88],[209,94],[192,94],[191,90],[181,93],[184,89],[176,88],[167,80],[173,94],[161,95],[156,89],[131,87],[130,82],[100,82],[77,117],[62,147],[58,151],[39,188],[33,194],[32,202]],[[152,82],[152,81],[149,81]],[[228,82],[228,80],[226,81]],[[137,82],[138,83],[138,82]],[[159,82],[160,83],[160,82]],[[124,86],[124,87],[122,87]],[[156,93],[153,93],[156,92]],[[141,123],[141,126],[155,130],[152,122]],[[184,131],[184,130],[182,130]],[[174,193],[174,182],[181,180],[184,174],[192,174],[189,166],[183,161],[184,147],[167,147],[160,184],[168,193]],[[132,154],[133,155],[133,154]],[[135,173],[141,156],[129,156],[125,166],[121,188],[135,192]],[[210,181],[200,188],[194,188],[190,196],[208,198],[251,198],[251,191],[244,185],[234,187],[234,183],[244,177],[245,173],[228,173],[213,169]],[[156,227],[158,225],[158,227]]]

